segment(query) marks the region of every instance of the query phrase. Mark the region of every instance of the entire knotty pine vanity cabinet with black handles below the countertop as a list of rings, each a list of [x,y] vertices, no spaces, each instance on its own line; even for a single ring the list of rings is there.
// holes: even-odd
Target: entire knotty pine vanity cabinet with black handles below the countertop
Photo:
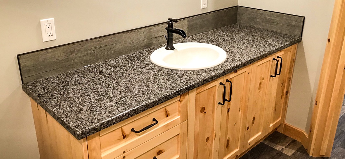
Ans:
[[[288,47],[81,140],[31,99],[40,157],[237,159],[282,127],[296,47],[297,44]],[[139,132],[145,127],[148,129]]]

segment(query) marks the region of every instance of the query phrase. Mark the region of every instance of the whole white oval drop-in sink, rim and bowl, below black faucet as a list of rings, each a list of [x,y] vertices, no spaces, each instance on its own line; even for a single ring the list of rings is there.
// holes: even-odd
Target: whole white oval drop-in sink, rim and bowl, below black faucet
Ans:
[[[197,70],[217,66],[226,59],[225,51],[205,43],[178,43],[174,50],[165,46],[155,50],[150,60],[155,65],[170,69]]]

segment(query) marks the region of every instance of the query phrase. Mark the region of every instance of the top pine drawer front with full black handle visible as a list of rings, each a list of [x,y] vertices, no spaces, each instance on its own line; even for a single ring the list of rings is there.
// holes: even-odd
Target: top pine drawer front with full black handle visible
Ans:
[[[153,121],[156,119],[158,121]],[[157,135],[174,128],[180,123],[179,98],[154,110],[144,112],[120,127],[105,129],[100,132],[100,147],[102,159],[114,159]],[[155,124],[155,125],[153,125]],[[139,131],[148,125],[152,127]]]

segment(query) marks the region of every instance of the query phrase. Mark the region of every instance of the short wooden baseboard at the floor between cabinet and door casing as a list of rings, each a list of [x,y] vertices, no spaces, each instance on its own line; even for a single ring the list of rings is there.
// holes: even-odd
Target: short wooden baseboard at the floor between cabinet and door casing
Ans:
[[[282,133],[290,138],[293,138],[301,142],[304,148],[308,147],[308,134],[305,131],[296,128],[290,124],[284,123]]]

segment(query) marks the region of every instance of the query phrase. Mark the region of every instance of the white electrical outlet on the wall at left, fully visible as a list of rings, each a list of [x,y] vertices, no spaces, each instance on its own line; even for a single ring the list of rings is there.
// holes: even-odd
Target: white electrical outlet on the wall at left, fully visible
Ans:
[[[54,18],[42,19],[40,22],[43,42],[56,40]]]

